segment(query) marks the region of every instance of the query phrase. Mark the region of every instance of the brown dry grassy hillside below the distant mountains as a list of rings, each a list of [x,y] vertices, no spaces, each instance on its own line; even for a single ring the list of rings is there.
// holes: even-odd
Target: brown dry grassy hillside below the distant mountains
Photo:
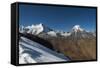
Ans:
[[[71,61],[95,60],[96,59],[96,39],[66,39],[66,38],[46,38],[59,53],[68,56]]]

